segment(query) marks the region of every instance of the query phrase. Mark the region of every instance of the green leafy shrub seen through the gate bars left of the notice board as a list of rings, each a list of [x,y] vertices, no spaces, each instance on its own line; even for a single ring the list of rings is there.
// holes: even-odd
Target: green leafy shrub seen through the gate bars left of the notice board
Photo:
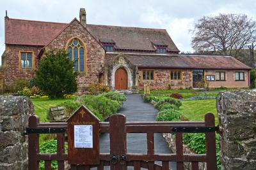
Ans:
[[[65,150],[67,151],[67,144],[65,143]],[[40,145],[40,153],[56,153],[57,152],[57,140],[52,139],[44,142]],[[51,168],[57,169],[58,162],[56,160],[51,161]],[[45,169],[44,160],[40,161],[40,170]]]

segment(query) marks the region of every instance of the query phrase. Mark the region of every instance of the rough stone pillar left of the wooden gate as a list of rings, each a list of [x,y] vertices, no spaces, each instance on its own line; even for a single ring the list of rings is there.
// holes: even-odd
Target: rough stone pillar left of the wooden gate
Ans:
[[[24,96],[0,96],[0,169],[28,169],[28,136],[24,135],[33,103]]]

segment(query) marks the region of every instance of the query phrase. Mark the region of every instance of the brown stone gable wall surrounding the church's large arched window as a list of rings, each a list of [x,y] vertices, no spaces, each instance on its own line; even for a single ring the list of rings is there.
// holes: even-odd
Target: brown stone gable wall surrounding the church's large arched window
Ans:
[[[46,46],[45,50],[65,49],[68,40],[78,37],[82,39],[87,48],[86,53],[86,72],[80,72],[77,76],[77,85],[79,94],[90,85],[90,83],[99,83],[99,74],[104,67],[105,51],[99,42],[79,23],[78,20],[68,25],[56,38]]]

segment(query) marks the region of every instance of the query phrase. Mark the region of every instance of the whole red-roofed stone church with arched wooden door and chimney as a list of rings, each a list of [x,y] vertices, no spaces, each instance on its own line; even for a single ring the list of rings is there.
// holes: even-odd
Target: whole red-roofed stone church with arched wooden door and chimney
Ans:
[[[184,55],[165,29],[93,25],[86,11],[70,23],[4,17],[5,51],[0,81],[10,85],[30,80],[44,52],[65,49],[74,60],[79,93],[90,83],[114,90],[138,92],[150,81],[151,89],[196,87],[249,87],[251,67],[231,56]],[[3,85],[2,85],[3,86]]]

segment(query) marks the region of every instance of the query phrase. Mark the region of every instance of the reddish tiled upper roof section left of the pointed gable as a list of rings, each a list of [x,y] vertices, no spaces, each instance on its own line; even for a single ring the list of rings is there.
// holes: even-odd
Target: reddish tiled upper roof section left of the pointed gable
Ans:
[[[66,25],[57,22],[9,18],[9,20],[5,20],[5,43],[44,46]]]

